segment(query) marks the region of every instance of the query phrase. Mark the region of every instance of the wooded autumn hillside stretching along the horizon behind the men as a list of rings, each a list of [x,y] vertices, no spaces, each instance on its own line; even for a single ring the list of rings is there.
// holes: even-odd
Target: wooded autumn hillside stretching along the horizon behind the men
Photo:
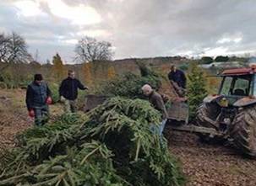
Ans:
[[[204,59],[203,57],[202,59]],[[210,58],[210,57],[208,57]],[[247,66],[248,58],[230,57],[229,61],[216,62],[205,64],[205,61],[188,59],[181,56],[173,57],[155,57],[155,58],[129,58],[116,61],[93,61],[83,64],[63,64],[63,61],[58,63],[40,64],[38,62],[31,63],[3,63],[0,62],[0,87],[1,88],[25,88],[29,82],[33,79],[35,73],[41,73],[46,82],[53,83],[53,89],[57,89],[59,82],[67,77],[67,71],[69,69],[76,72],[81,82],[84,82],[90,87],[92,93],[96,92],[96,89],[101,87],[101,83],[106,82],[112,78],[123,76],[127,72],[139,74],[139,66],[136,63],[143,63],[146,66],[150,66],[152,70],[161,74],[162,77],[167,78],[167,74],[170,71],[172,64],[185,72],[188,72],[189,64],[197,62],[199,66],[204,68],[205,76],[209,87],[209,93],[215,93],[218,80],[213,75],[222,72],[225,68],[236,67],[233,61],[239,62],[239,66]],[[207,58],[206,58],[207,59]],[[205,67],[206,66],[206,67]],[[164,83],[166,84],[166,83]],[[166,84],[165,87],[168,87]]]

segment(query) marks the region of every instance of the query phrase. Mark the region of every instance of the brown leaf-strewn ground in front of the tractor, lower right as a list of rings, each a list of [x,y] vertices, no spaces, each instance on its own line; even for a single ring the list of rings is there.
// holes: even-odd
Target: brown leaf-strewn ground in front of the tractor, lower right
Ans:
[[[242,157],[231,146],[201,143],[193,134],[167,133],[170,151],[182,162],[188,186],[256,185],[256,160]]]

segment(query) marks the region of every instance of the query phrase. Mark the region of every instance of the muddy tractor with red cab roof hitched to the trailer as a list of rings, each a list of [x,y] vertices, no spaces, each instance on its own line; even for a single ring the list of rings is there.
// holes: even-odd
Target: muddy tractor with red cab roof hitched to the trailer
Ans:
[[[228,139],[256,157],[256,68],[226,70],[221,77],[219,93],[204,98],[194,125],[213,131],[200,133],[202,139]]]

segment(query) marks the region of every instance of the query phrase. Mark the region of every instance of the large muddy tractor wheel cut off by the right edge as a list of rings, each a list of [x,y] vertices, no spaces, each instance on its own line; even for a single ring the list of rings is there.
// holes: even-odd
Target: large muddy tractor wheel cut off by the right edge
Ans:
[[[256,105],[238,111],[231,125],[231,137],[238,150],[256,157]]]

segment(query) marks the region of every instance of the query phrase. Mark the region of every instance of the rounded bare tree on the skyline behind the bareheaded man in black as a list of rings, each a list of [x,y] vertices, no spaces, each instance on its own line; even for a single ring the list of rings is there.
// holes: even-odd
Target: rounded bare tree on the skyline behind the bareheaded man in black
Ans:
[[[75,46],[75,59],[85,61],[106,61],[113,56],[112,45],[106,41],[97,41],[94,38],[85,36]]]

